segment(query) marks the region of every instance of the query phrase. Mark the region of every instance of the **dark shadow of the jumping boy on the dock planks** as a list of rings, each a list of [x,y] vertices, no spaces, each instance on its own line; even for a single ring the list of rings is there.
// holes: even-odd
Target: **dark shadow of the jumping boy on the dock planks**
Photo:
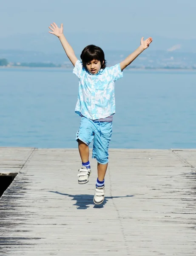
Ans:
[[[134,195],[125,195],[125,196],[106,196],[103,203],[100,205],[95,205],[93,202],[94,195],[69,195],[65,193],[60,193],[58,191],[48,191],[52,193],[56,193],[59,195],[65,195],[68,197],[71,197],[71,200],[76,201],[75,204],[77,206],[77,209],[87,209],[90,207],[89,205],[94,205],[93,208],[103,208],[104,205],[108,202],[108,200],[113,199],[113,198],[128,198],[128,197],[133,197]]]

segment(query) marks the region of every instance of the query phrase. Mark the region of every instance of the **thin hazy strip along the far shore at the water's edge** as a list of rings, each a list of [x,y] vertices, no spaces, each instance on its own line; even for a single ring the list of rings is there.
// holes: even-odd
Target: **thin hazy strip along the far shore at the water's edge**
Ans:
[[[74,68],[74,67],[73,67]],[[33,69],[39,69],[39,70],[73,70],[72,67],[68,68],[68,67],[21,67],[21,66],[11,66],[11,67],[5,67],[5,66],[0,66],[0,69],[20,69],[20,70],[33,70]],[[137,68],[137,67],[132,67],[132,68],[128,68],[125,71],[134,71],[134,70],[140,70],[140,71],[149,71],[149,70],[153,70],[153,71],[196,71],[196,69],[193,68]]]

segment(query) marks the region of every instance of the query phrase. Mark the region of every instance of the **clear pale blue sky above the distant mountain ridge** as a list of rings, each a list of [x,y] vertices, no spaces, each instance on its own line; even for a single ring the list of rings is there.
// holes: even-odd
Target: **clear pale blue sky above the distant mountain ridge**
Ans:
[[[196,38],[196,0],[3,0],[0,37],[42,33],[51,22],[66,32],[129,32]],[[4,25],[3,25],[4,24]]]

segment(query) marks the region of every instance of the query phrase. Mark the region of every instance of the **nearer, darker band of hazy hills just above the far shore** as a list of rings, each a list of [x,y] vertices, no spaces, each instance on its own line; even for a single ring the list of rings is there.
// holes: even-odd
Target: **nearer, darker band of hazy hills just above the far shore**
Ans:
[[[130,54],[129,51],[106,50],[105,59],[108,66],[119,63]],[[80,59],[80,54],[76,53]],[[64,50],[61,53],[45,53],[38,51],[25,51],[14,49],[0,49],[0,58],[6,58],[11,63],[53,63],[71,67],[71,63]],[[177,67],[177,68],[196,68],[196,53],[148,49],[131,64],[135,67]]]

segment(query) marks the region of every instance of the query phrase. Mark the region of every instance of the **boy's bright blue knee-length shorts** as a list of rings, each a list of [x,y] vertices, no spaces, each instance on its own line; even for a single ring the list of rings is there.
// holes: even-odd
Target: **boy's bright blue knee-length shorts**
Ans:
[[[108,147],[112,136],[112,122],[93,122],[82,117],[80,129],[77,131],[76,140],[81,140],[86,145],[93,142],[93,155],[98,163],[108,163]]]

